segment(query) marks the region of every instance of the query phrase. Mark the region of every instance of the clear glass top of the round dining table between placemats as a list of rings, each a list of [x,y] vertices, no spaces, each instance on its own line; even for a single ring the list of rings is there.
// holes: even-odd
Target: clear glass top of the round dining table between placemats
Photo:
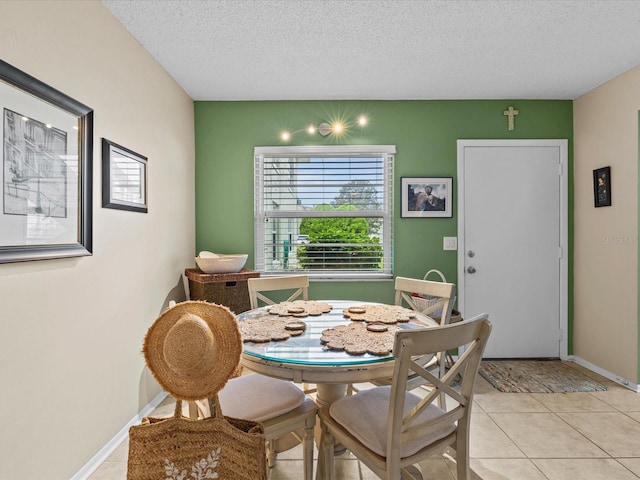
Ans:
[[[344,351],[329,350],[320,342],[322,331],[338,325],[346,325],[351,322],[345,318],[342,311],[356,305],[375,305],[372,302],[359,302],[357,300],[318,300],[333,306],[329,313],[320,316],[308,316],[301,318],[307,324],[305,332],[285,341],[272,341],[268,343],[245,342],[243,353],[263,360],[281,363],[318,366],[348,366],[373,364],[386,362],[393,359],[393,355],[377,356],[365,353],[364,355],[349,355]],[[238,315],[238,321],[268,315],[266,308],[250,310]],[[402,329],[424,328],[433,326],[435,322],[429,317],[418,315],[409,323],[399,323]]]

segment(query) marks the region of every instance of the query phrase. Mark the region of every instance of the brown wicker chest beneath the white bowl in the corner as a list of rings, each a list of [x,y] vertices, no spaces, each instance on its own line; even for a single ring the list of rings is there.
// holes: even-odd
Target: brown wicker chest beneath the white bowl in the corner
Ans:
[[[184,274],[189,279],[191,300],[224,305],[236,314],[251,309],[247,280],[260,276],[260,272],[246,268],[238,273],[205,273],[199,268],[187,268]]]

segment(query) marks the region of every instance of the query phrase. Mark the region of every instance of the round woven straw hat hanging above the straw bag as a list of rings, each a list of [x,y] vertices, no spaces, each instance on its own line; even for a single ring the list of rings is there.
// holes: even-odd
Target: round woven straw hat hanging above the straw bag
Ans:
[[[242,338],[227,307],[182,302],[151,325],[142,352],[163,389],[179,400],[201,400],[215,395],[232,376]]]

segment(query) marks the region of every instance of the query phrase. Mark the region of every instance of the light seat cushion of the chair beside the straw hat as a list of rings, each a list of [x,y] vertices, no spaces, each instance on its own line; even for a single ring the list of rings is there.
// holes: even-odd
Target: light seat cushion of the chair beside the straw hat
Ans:
[[[258,373],[232,378],[218,392],[224,415],[256,422],[287,413],[302,405],[304,398],[293,383]]]

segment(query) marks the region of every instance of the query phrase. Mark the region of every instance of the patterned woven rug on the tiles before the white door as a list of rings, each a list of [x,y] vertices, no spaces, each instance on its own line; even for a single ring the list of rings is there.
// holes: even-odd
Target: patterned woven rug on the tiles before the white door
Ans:
[[[486,360],[480,375],[507,393],[597,392],[607,389],[560,360]]]

